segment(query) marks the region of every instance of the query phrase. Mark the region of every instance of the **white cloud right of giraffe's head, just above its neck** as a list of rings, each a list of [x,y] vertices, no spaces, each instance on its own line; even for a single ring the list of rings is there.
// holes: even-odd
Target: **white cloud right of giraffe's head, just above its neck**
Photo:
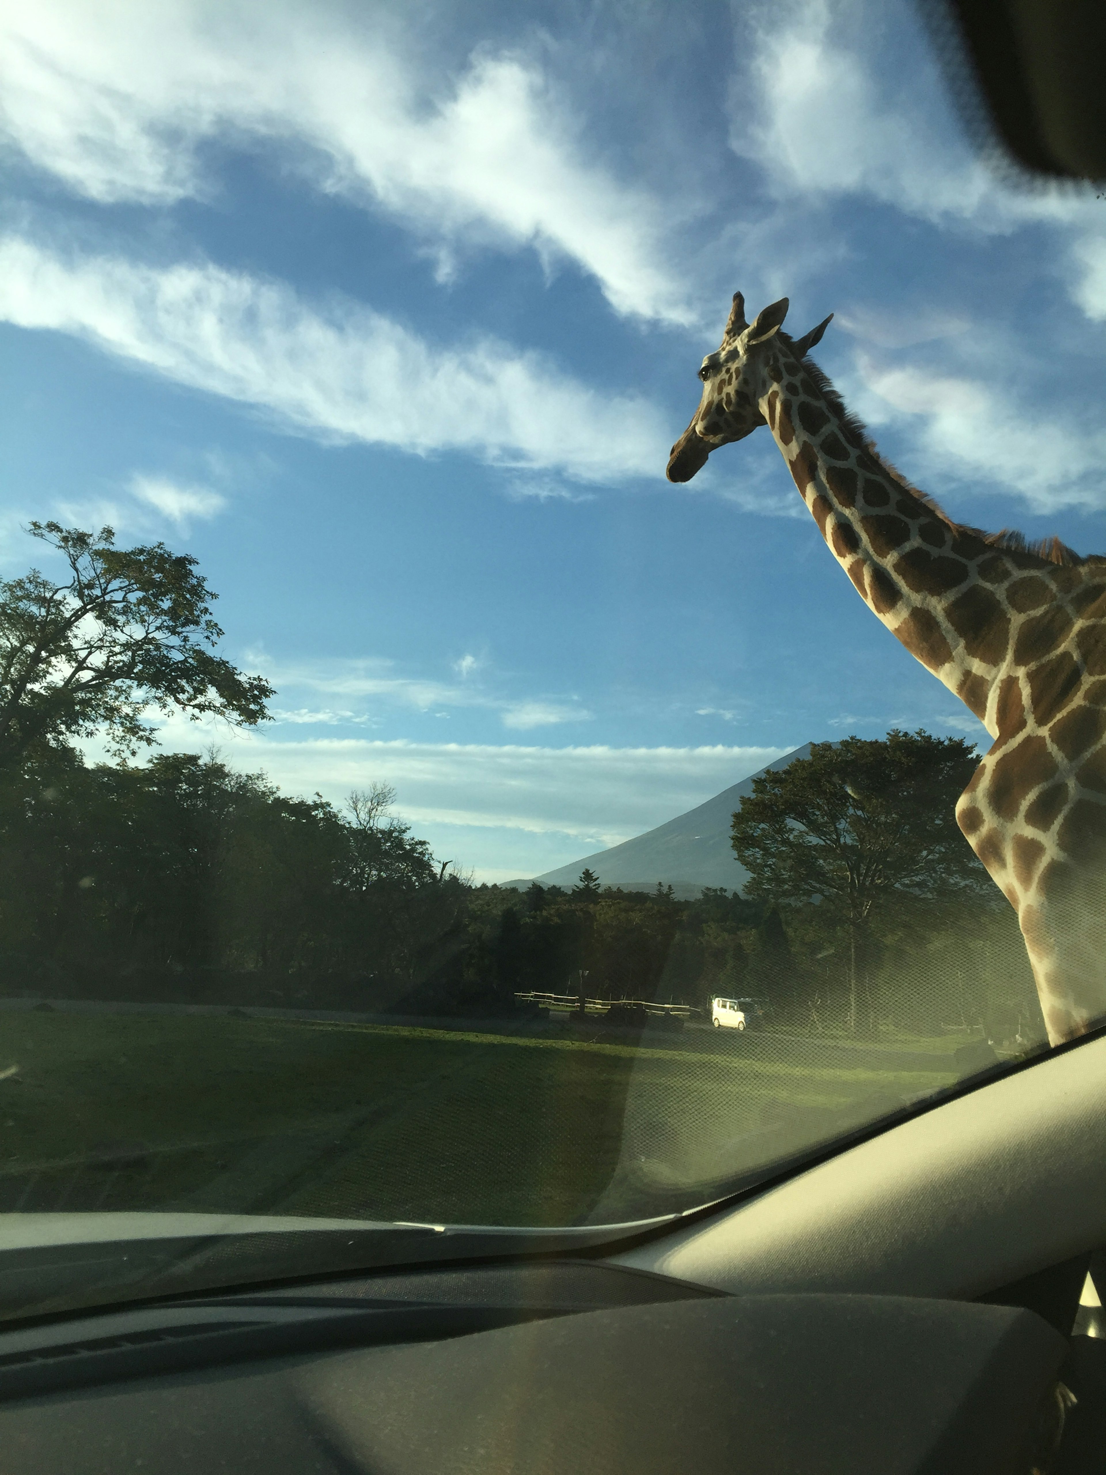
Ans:
[[[1106,507],[1106,432],[1034,414],[1018,395],[966,376],[885,367],[864,354],[857,369],[867,391],[864,413],[904,429],[929,471],[1015,491],[1040,512]],[[920,484],[925,471],[908,468]]]

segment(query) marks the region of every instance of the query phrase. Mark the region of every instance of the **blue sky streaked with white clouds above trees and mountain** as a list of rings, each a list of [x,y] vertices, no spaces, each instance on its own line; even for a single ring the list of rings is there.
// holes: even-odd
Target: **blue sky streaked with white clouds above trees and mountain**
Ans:
[[[1106,201],[976,158],[907,4],[6,0],[0,97],[3,571],[195,553],[276,720],[162,746],[478,878],[984,738],[767,431],[665,482],[736,288],[956,516],[1106,550]]]

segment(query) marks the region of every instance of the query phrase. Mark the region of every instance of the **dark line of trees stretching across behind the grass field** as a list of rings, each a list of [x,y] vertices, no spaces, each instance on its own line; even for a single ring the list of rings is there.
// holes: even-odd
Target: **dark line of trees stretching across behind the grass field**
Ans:
[[[1032,1030],[1013,913],[960,836],[961,739],[814,745],[733,822],[743,894],[472,885],[392,814],[149,755],[150,709],[267,718],[215,594],[164,544],[31,524],[65,574],[0,584],[0,976],[12,991],[509,1012],[522,991],[754,999],[780,1028]],[[80,742],[106,735],[115,761]],[[147,761],[136,757],[147,749]]]

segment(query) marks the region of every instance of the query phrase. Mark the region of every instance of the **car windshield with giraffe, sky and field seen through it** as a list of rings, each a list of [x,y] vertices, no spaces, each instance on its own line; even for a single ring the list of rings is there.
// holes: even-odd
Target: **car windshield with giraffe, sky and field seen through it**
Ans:
[[[914,7],[0,66],[0,1316],[627,1238],[1099,1024],[1106,204]]]

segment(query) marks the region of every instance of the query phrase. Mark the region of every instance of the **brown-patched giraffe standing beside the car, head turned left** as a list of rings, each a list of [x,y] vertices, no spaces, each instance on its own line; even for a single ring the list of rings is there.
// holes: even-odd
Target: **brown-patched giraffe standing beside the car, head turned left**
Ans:
[[[957,823],[1018,912],[1050,1041],[1077,1038],[1106,1016],[1106,558],[954,522],[808,357],[833,314],[792,339],[786,313],[749,324],[734,294],[668,479],[770,428],[860,597],[994,739]]]

